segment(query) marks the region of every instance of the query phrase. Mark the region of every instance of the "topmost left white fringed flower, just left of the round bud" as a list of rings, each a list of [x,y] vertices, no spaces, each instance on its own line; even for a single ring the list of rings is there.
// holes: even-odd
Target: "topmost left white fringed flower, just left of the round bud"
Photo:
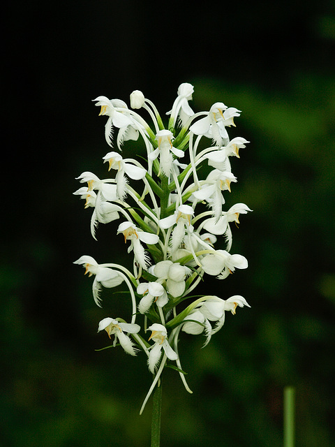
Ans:
[[[93,101],[98,101],[96,105],[101,106],[100,115],[107,115],[109,118],[107,123],[105,124],[105,138],[108,145],[112,146],[112,126],[117,127],[118,129],[127,129],[128,126],[133,126],[133,120],[128,116],[126,111],[128,107],[124,101],[119,99],[108,99],[106,96],[98,96],[98,98]],[[119,112],[115,110],[115,108],[124,108],[125,112]],[[134,135],[131,135],[132,137]],[[129,138],[129,139],[137,139],[137,138]]]

